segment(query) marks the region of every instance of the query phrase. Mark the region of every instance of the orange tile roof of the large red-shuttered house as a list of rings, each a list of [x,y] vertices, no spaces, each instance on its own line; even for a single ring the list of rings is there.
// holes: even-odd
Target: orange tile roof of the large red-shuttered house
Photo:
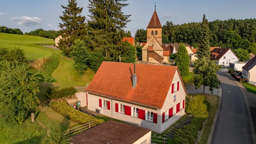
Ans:
[[[132,88],[134,64],[102,62],[85,91],[161,109],[176,70],[177,66],[136,64],[137,85]]]

